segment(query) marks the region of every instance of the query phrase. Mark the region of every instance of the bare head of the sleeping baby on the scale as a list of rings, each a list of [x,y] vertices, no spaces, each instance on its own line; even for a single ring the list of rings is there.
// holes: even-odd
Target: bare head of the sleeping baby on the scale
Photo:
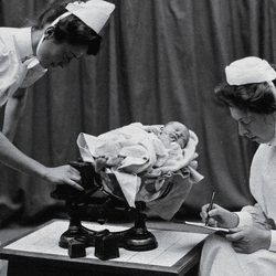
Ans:
[[[169,135],[170,141],[179,144],[181,149],[187,146],[190,138],[189,129],[179,121],[169,121],[164,125],[162,132]]]

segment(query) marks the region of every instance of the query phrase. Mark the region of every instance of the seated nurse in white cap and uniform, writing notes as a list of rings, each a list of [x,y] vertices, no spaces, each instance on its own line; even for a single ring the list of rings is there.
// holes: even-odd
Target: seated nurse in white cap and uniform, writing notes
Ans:
[[[276,273],[276,72],[266,61],[250,56],[231,63],[225,73],[226,83],[216,87],[215,95],[230,108],[238,134],[259,144],[250,176],[257,203],[235,213],[217,204],[208,213],[208,204],[202,206],[204,222],[227,227],[231,234],[206,240],[200,275],[272,276]]]

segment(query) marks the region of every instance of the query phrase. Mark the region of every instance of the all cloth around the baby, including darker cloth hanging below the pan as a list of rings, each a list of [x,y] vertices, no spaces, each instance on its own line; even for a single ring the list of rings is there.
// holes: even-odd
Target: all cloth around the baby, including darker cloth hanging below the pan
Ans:
[[[99,156],[126,157],[118,168],[106,171],[114,173],[130,206],[135,206],[135,201],[145,201],[164,220],[176,214],[192,184],[203,179],[197,171],[194,160],[197,145],[198,137],[190,131],[190,140],[183,150],[173,142],[170,149],[166,149],[161,140],[155,134],[142,130],[139,123],[97,137],[79,134],[77,138],[84,161],[95,163],[94,158]],[[157,180],[145,184],[140,177],[146,176],[157,177]],[[108,182],[107,176],[103,180]]]

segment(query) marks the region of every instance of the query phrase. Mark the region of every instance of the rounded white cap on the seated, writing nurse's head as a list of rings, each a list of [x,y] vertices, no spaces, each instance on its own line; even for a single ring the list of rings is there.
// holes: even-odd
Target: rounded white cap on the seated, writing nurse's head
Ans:
[[[272,82],[276,78],[275,70],[267,61],[255,56],[244,57],[225,67],[226,81],[230,85]]]

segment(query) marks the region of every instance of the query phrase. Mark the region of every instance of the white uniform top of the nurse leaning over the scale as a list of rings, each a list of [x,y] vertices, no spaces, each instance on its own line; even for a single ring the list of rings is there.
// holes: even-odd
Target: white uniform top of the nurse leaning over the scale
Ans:
[[[0,28],[0,106],[45,73],[33,55],[31,28]]]

